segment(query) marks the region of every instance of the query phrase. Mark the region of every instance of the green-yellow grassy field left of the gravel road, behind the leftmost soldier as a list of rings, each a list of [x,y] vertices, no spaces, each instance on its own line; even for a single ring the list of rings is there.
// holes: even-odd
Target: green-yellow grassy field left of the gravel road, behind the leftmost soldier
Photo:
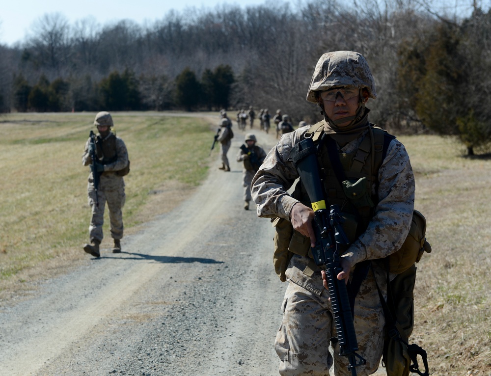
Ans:
[[[125,232],[162,214],[202,181],[213,141],[210,124],[158,113],[113,113],[126,143]],[[218,115],[217,116],[218,119]],[[95,113],[16,113],[0,117],[0,297],[33,269],[58,269],[85,256],[89,168],[82,153]],[[104,224],[110,246],[108,211]],[[109,240],[107,239],[109,237]],[[47,271],[49,273],[49,271]]]

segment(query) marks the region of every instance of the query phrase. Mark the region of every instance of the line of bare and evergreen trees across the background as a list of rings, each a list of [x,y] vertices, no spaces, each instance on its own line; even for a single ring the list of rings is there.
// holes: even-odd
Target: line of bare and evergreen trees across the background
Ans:
[[[457,1],[458,2],[458,1]],[[456,2],[456,3],[457,3]],[[469,154],[490,144],[491,13],[478,1],[436,12],[427,0],[304,0],[245,9],[171,11],[69,25],[46,14],[32,35],[0,46],[3,111],[281,108],[320,119],[305,101],[327,51],[363,54],[379,97],[371,119],[398,132],[458,135]]]

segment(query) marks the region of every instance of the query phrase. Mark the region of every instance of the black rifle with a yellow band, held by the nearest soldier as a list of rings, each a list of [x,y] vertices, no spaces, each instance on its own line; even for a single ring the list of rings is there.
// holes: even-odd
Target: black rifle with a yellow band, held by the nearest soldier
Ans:
[[[337,275],[343,270],[338,246],[347,244],[348,240],[341,227],[343,218],[338,205],[331,205],[329,211],[327,210],[315,152],[312,138],[305,138],[295,146],[293,161],[314,210],[315,247],[312,248],[312,254],[315,263],[326,271],[329,298],[340,346],[339,355],[348,357],[348,370],[351,371],[352,376],[356,376],[356,367],[365,364],[366,360],[356,353],[358,342],[346,283],[344,279],[337,279]]]

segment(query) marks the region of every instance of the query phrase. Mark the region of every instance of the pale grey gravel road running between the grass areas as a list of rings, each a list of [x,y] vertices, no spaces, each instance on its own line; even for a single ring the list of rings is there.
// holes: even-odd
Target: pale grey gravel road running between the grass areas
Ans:
[[[218,122],[218,120],[217,120]],[[219,171],[172,212],[42,283],[0,312],[0,375],[275,375],[286,284],[273,228],[245,211],[242,166]],[[255,131],[269,150],[274,139]],[[211,138],[211,137],[210,137]]]

